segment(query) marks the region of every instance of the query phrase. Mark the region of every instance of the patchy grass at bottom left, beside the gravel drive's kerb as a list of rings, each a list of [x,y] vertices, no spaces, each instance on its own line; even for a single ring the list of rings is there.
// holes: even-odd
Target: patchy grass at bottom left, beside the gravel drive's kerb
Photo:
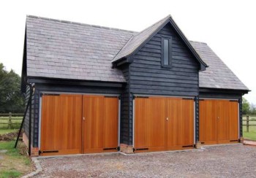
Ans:
[[[20,177],[33,171],[34,165],[26,155],[26,146],[19,142],[18,149],[13,148],[15,141],[0,142],[0,177]]]

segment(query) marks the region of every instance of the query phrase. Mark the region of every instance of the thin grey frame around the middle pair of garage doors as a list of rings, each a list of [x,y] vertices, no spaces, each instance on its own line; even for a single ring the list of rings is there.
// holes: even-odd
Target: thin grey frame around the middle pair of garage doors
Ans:
[[[132,98],[132,147],[135,147],[135,96],[145,96],[145,97],[162,97],[162,98],[192,98],[194,100],[194,144],[195,144],[195,96],[159,96],[159,95],[144,95],[144,94],[133,94]]]

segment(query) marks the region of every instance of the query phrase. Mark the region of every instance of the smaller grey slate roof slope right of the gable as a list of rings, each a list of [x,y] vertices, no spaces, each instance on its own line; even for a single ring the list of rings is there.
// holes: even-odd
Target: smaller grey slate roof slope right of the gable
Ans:
[[[249,90],[206,43],[190,43],[203,61],[208,64],[206,71],[199,72],[200,88]]]

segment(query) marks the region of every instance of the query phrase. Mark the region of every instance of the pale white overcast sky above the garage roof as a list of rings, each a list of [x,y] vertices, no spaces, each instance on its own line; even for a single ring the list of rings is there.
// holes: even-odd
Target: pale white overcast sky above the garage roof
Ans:
[[[256,104],[254,0],[1,0],[0,62],[21,74],[26,15],[142,31],[169,14],[189,40],[206,42],[222,58]]]

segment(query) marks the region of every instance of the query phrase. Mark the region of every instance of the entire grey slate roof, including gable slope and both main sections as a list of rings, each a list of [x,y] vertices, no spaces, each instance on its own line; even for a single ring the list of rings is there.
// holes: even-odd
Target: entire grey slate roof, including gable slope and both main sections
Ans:
[[[132,53],[167,18],[138,33],[27,16],[27,76],[126,82],[112,61]],[[248,90],[207,44],[190,43],[209,66],[200,71],[200,88]]]

